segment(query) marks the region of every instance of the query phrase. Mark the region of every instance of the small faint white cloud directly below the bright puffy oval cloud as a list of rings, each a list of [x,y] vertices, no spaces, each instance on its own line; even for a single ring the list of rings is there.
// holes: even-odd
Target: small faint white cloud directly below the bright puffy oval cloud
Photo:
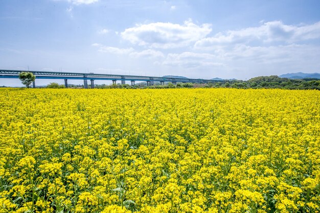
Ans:
[[[181,66],[185,68],[223,66],[222,63],[215,61],[216,57],[212,54],[184,52],[181,54],[168,54],[163,64],[169,66]]]

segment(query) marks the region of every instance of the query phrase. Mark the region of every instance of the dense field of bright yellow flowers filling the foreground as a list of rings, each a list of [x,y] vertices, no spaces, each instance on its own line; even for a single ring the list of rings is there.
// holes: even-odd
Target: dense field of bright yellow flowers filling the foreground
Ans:
[[[320,92],[0,89],[0,212],[319,212]]]

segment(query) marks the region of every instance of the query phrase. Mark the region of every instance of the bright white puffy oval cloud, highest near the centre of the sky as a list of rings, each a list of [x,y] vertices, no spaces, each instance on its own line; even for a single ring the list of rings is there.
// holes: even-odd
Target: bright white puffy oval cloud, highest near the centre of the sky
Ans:
[[[211,25],[208,23],[198,26],[192,20],[185,21],[184,25],[154,22],[128,28],[121,33],[121,36],[133,44],[169,49],[187,46],[204,38],[211,30]]]

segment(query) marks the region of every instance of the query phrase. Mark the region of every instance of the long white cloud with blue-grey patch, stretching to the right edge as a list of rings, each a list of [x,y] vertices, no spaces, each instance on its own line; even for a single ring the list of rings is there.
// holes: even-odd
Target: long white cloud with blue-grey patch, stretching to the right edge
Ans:
[[[213,37],[200,39],[195,43],[196,48],[210,48],[217,45],[249,44],[254,41],[292,43],[320,37],[320,21],[313,25],[292,26],[281,21],[265,22],[259,27],[229,30],[217,33]]]

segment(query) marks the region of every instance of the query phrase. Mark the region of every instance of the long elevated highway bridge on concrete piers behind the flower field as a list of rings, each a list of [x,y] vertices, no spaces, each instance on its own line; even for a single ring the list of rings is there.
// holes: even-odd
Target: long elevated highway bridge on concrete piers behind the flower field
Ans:
[[[176,84],[181,83],[214,83],[219,82],[217,80],[207,79],[190,79],[190,78],[171,78],[171,77],[154,77],[154,76],[131,76],[131,75],[112,75],[112,74],[95,74],[95,73],[66,73],[66,72],[47,72],[47,71],[29,71],[29,70],[10,70],[0,69],[0,78],[19,78],[21,72],[33,73],[36,79],[64,79],[65,87],[68,87],[67,80],[83,80],[84,88],[88,88],[87,81],[90,80],[91,88],[95,87],[95,80],[111,80],[113,84],[117,81],[121,81],[121,84],[125,84],[126,81],[130,81],[131,85],[134,85],[135,81],[145,81],[147,85],[152,85],[154,82],[160,82],[161,85],[164,82],[172,82]],[[35,81],[33,81],[33,88],[35,88]]]

